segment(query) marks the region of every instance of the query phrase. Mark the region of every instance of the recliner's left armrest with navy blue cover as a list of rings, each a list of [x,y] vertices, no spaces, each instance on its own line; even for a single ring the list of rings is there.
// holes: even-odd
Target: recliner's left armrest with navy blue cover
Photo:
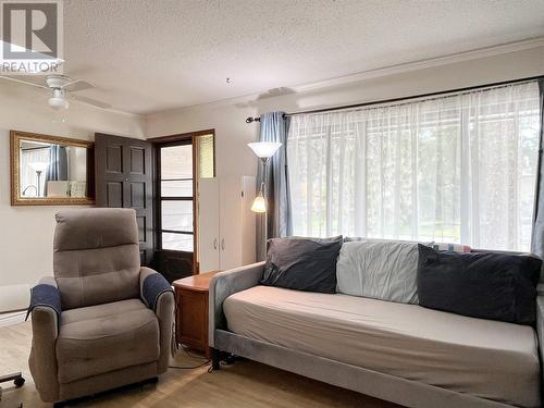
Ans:
[[[36,388],[46,401],[59,396],[55,345],[59,336],[60,294],[54,277],[41,279],[30,293],[33,341],[28,364]]]

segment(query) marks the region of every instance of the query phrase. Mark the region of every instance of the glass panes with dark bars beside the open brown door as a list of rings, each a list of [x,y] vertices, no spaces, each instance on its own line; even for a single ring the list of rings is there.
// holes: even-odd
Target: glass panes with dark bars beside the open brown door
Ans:
[[[159,242],[161,249],[193,252],[193,145],[159,147]]]

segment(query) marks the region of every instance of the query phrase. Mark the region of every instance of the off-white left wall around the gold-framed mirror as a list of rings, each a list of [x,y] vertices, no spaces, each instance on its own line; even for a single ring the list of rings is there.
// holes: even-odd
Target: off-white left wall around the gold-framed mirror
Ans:
[[[54,213],[61,207],[11,207],[9,131],[91,140],[95,132],[144,138],[139,116],[72,103],[64,124],[53,123],[47,97],[0,84],[0,298],[1,310],[27,306],[25,285],[52,273]],[[65,207],[64,207],[65,208]],[[10,296],[14,293],[18,296]]]

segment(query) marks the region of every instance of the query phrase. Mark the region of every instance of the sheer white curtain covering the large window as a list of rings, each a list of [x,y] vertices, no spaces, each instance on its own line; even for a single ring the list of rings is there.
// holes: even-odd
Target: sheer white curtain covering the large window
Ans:
[[[529,250],[539,87],[292,118],[294,234]]]

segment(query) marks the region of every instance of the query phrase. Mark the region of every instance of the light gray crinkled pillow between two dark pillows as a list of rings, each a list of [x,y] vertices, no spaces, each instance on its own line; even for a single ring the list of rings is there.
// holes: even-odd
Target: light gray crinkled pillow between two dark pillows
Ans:
[[[337,290],[346,295],[418,304],[418,243],[357,240],[342,246]]]

